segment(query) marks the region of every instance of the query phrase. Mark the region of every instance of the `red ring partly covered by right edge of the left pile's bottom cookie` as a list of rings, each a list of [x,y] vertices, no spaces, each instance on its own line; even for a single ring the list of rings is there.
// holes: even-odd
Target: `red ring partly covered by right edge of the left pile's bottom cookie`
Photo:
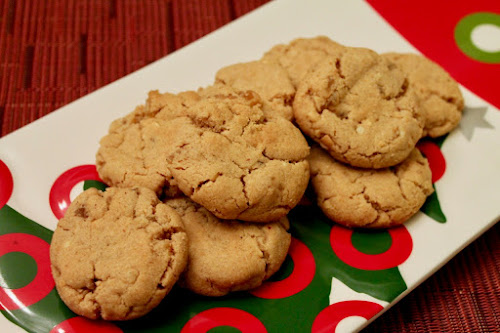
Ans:
[[[292,237],[288,254],[293,260],[292,273],[281,281],[264,282],[259,288],[250,291],[252,295],[267,299],[285,298],[301,292],[311,283],[316,272],[311,250]]]

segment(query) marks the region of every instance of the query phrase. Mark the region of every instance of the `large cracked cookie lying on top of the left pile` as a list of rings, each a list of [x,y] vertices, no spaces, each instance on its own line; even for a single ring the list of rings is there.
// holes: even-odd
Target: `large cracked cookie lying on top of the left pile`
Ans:
[[[154,126],[179,189],[222,219],[269,222],[305,192],[309,146],[291,122],[266,118],[252,91],[207,87],[185,115]]]

